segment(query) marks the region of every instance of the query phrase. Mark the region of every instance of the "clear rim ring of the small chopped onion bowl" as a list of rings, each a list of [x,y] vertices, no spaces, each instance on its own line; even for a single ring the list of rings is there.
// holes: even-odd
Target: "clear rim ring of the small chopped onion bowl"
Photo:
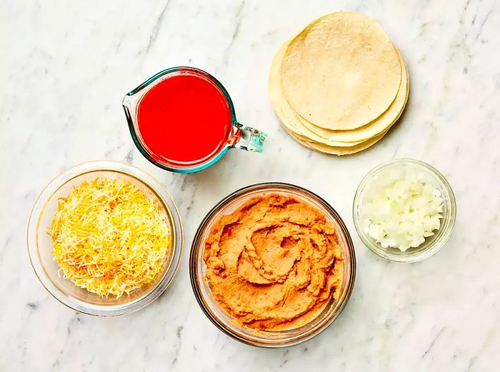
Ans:
[[[364,232],[362,226],[361,226],[361,221],[359,221],[359,216],[358,216],[358,211],[361,203],[361,193],[366,187],[366,185],[369,184],[369,181],[379,173],[382,169],[386,169],[389,166],[394,166],[396,164],[400,165],[411,165],[411,166],[420,166],[426,169],[427,171],[430,171],[431,174],[434,174],[436,178],[441,182],[441,186],[443,186],[444,190],[447,193],[447,196],[449,198],[449,219],[447,222],[448,226],[446,226],[446,229],[442,233],[442,235],[439,237],[439,240],[436,241],[434,244],[426,248],[424,251],[419,251],[416,253],[411,253],[411,251],[406,251],[407,254],[405,256],[403,255],[395,255],[393,253],[387,252],[384,248],[379,247],[377,243],[374,243],[373,241],[370,240],[370,238],[366,235]],[[384,161],[383,163],[379,164],[378,166],[375,166],[372,168],[364,177],[361,179],[359,182],[358,187],[356,188],[356,193],[354,194],[354,200],[352,203],[352,217],[354,220],[354,227],[356,228],[356,232],[358,233],[359,238],[361,238],[361,241],[364,243],[364,245],[370,249],[373,253],[375,253],[377,256],[380,256],[382,258],[385,258],[387,261],[391,262],[397,262],[397,263],[414,263],[414,262],[419,262],[423,261],[426,258],[429,258],[430,256],[433,256],[435,253],[437,253],[443,246],[446,244],[446,241],[448,241],[449,237],[451,236],[451,233],[454,230],[455,226],[455,220],[456,220],[456,198],[455,194],[453,191],[453,188],[451,188],[451,185],[449,184],[448,180],[446,177],[441,174],[440,171],[438,171],[434,166],[431,166],[431,164],[428,164],[424,161],[421,160],[416,160],[416,159],[409,159],[409,158],[400,158],[400,159],[392,159],[390,161]],[[446,216],[443,216],[446,218]],[[444,224],[442,223],[441,226]]]

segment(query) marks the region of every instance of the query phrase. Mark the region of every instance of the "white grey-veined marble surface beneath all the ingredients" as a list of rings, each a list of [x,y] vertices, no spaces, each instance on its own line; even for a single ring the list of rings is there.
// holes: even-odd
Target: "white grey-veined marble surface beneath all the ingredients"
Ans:
[[[266,91],[286,38],[321,14],[361,11],[401,50],[411,95],[399,126],[369,151],[313,153],[280,128]],[[434,1],[0,1],[0,371],[498,371],[500,361],[500,4]],[[189,64],[215,74],[241,122],[269,132],[264,156],[229,151],[199,174],[170,174],[132,144],[121,98]],[[351,218],[356,186],[382,161],[441,170],[458,218],[436,256],[377,258]],[[36,280],[26,223],[41,188],[91,159],[156,175],[178,203],[186,243],[159,301],[119,318],[62,306]],[[310,188],[344,217],[356,246],[351,301],[320,336],[264,350],[233,341],[197,305],[189,246],[209,208],[260,181]],[[320,369],[321,368],[321,369]]]

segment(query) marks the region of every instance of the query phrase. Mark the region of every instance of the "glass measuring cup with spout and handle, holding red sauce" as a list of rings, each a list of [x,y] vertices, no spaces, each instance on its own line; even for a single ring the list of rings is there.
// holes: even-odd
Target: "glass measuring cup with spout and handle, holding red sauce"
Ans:
[[[201,171],[231,148],[264,149],[267,135],[239,124],[224,86],[194,67],[160,71],[122,104],[137,149],[168,171]]]

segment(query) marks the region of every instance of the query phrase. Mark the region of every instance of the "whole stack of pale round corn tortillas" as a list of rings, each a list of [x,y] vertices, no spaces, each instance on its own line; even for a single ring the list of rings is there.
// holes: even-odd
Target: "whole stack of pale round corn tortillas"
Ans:
[[[399,119],[409,74],[374,19],[339,11],[312,21],[281,46],[271,64],[269,93],[284,129],[300,144],[354,154]]]

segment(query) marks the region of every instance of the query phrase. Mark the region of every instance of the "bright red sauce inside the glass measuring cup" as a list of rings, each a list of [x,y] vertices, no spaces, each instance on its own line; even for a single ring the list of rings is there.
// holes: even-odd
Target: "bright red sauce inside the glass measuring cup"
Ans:
[[[224,148],[231,109],[222,91],[204,76],[174,74],[139,102],[137,119],[146,146],[162,163],[197,164]]]

